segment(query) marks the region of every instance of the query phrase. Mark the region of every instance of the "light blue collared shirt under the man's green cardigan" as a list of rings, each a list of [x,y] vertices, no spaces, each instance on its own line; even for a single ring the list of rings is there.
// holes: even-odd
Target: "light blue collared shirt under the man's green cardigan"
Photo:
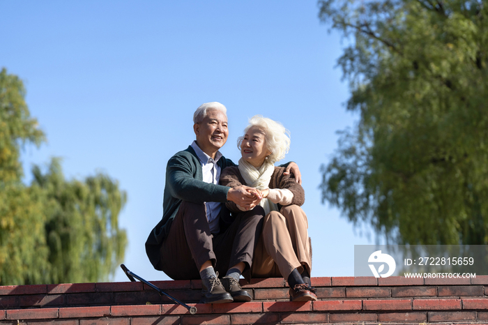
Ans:
[[[217,165],[217,162],[222,158],[222,153],[217,151],[215,159],[213,159],[200,149],[196,141],[191,144],[191,147],[195,150],[195,153],[197,153],[197,157],[200,160],[204,182],[218,185],[220,179],[220,166]],[[218,233],[220,231],[218,216],[222,206],[220,205],[220,202],[205,202],[205,206],[210,232],[212,234]]]

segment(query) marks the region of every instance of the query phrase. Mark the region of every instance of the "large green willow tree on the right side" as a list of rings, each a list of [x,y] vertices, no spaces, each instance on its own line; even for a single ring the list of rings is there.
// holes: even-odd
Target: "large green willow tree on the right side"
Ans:
[[[488,243],[485,1],[319,1],[360,114],[322,166],[323,201],[390,241]]]

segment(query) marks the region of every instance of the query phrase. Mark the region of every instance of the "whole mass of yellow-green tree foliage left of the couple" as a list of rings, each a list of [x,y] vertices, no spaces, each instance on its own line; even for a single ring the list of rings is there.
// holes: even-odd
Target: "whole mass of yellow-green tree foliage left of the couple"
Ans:
[[[45,140],[22,81],[0,73],[0,284],[107,280],[127,244],[118,218],[125,192],[105,174],[66,180],[58,159],[22,183],[20,149]]]

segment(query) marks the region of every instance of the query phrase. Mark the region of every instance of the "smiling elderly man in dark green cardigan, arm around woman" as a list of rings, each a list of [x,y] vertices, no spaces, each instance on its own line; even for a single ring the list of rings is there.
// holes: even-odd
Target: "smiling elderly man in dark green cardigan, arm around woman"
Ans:
[[[202,303],[250,301],[238,279],[241,273],[250,278],[264,216],[261,206],[256,206],[261,196],[247,186],[218,185],[222,169],[235,165],[218,151],[229,135],[224,105],[201,105],[193,121],[197,139],[167,164],[162,220],[148,236],[146,253],[154,268],[172,279],[201,278]],[[294,162],[288,164],[290,170],[299,180]],[[247,213],[231,217],[222,204],[227,200]],[[222,282],[215,269],[226,273]]]

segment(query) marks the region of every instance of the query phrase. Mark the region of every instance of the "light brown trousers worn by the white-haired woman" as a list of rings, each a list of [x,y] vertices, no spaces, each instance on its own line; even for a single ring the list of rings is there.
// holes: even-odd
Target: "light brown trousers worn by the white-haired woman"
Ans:
[[[264,217],[263,232],[254,251],[252,276],[288,279],[293,269],[312,274],[312,256],[305,212],[297,205],[284,206]]]

